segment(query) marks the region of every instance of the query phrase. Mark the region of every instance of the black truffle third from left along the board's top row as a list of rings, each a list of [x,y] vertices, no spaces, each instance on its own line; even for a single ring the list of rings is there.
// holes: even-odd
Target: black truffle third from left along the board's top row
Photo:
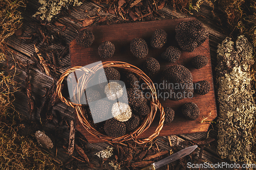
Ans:
[[[146,41],[142,38],[134,38],[130,43],[130,50],[137,58],[144,58],[148,53]]]

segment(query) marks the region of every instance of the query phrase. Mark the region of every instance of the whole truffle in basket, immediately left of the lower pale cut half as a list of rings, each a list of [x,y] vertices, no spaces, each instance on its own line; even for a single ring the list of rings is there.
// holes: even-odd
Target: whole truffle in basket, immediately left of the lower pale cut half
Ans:
[[[93,107],[90,107],[94,123],[99,123],[112,116],[112,104],[105,100],[99,100]]]

